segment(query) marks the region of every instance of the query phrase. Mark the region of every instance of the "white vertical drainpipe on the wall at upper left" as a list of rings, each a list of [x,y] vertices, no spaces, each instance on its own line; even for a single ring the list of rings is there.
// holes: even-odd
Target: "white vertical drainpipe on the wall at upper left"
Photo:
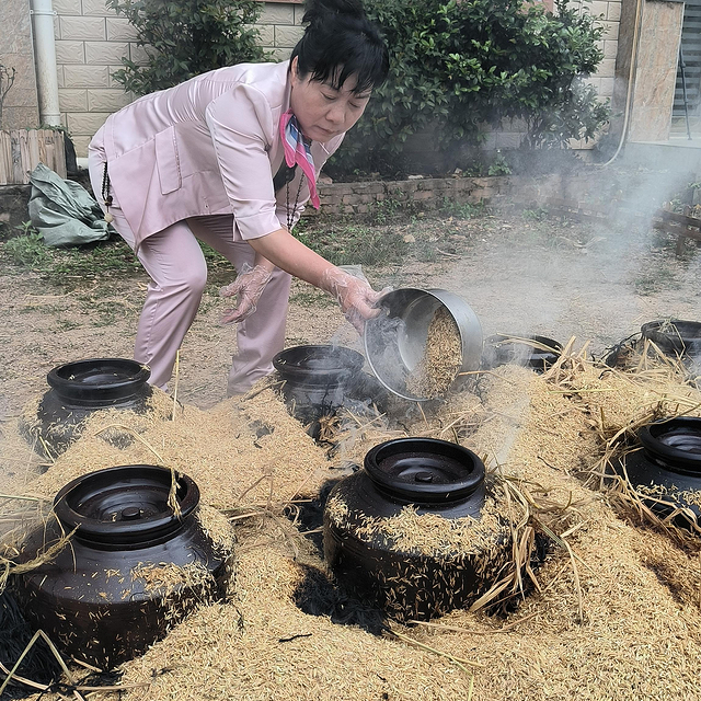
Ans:
[[[32,0],[30,12],[34,20],[34,65],[39,99],[39,122],[42,125],[60,126],[61,112],[58,105],[58,72],[54,43],[56,13],[51,7],[51,0]]]

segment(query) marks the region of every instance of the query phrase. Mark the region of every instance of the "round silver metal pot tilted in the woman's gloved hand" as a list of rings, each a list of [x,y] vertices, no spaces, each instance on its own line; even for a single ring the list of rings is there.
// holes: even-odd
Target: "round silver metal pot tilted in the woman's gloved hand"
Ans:
[[[383,295],[379,306],[382,313],[365,324],[365,354],[375,376],[394,394],[418,402],[435,399],[413,394],[406,381],[424,356],[428,327],[440,308],[452,317],[460,333],[459,371],[480,367],[482,326],[474,311],[458,295],[445,289],[405,287]]]

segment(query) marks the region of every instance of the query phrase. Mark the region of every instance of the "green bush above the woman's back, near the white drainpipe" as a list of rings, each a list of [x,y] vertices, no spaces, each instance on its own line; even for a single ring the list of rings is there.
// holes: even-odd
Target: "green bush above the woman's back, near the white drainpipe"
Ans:
[[[261,61],[253,27],[262,3],[256,0],[106,0],[136,27],[138,46],[149,56],[146,66],[123,58],[113,78],[125,90],[145,95],[171,88],[199,73]]]

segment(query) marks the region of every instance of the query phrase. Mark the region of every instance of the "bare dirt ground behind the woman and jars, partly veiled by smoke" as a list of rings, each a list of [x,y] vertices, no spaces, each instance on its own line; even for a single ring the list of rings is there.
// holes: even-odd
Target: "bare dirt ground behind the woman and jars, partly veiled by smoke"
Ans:
[[[590,341],[599,355],[646,321],[701,314],[701,256],[692,243],[677,258],[675,242],[644,226],[528,215],[395,225],[430,260],[365,272],[376,288],[435,287],[461,295],[476,312],[484,337],[538,333],[564,343],[574,335],[577,345]],[[235,348],[235,330],[218,323],[226,306],[218,288],[227,272],[218,277],[210,280],[181,354],[179,397],[199,407],[225,399]],[[5,266],[0,275],[0,418],[12,420],[46,391],[46,374],[57,365],[130,357],[146,285],[146,274],[46,280]],[[335,303],[296,283],[286,344],[330,341],[361,348]]]

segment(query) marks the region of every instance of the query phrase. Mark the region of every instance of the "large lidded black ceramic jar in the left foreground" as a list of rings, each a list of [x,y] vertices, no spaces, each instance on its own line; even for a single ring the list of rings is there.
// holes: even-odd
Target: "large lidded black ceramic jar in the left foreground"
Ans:
[[[15,576],[26,618],[62,654],[101,669],[145,652],[196,604],[225,593],[231,552],[203,528],[193,480],[157,466],[73,480],[54,501],[56,520],[24,542],[30,561],[72,533],[53,560]]]

